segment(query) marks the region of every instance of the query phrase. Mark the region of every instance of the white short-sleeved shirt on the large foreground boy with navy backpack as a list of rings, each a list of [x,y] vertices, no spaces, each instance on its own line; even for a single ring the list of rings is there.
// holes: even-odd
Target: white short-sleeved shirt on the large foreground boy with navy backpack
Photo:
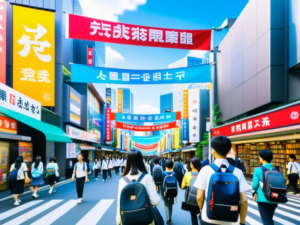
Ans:
[[[220,167],[222,164],[225,165],[226,167],[229,167],[229,163],[226,159],[216,159],[214,161],[214,164],[217,165],[217,167]],[[222,172],[225,172],[224,170],[226,170],[225,168],[222,168]],[[213,175],[215,173],[215,171],[209,166],[205,166],[203,167],[198,176],[197,179],[194,183],[194,187],[197,187],[201,190],[205,190],[205,198],[207,197],[207,191],[208,191],[208,185],[209,185],[209,180],[211,178],[211,175]],[[243,172],[238,169],[238,168],[234,168],[233,170],[233,175],[235,175],[238,178],[239,181],[239,186],[240,186],[240,193],[247,191],[247,190],[251,190],[252,187],[247,183]],[[207,218],[207,214],[206,214],[206,202],[204,200],[204,204],[203,204],[203,208],[202,208],[202,220],[204,222],[207,223],[213,223],[213,224],[221,224],[221,225],[232,225],[235,223],[232,222],[225,222],[225,221],[218,221],[218,220],[210,220]]]

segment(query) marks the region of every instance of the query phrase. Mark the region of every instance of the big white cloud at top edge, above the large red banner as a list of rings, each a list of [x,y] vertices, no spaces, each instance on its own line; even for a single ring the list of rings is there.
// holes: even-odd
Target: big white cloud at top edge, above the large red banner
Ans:
[[[118,22],[125,11],[135,11],[147,0],[79,0],[83,15],[95,19]]]

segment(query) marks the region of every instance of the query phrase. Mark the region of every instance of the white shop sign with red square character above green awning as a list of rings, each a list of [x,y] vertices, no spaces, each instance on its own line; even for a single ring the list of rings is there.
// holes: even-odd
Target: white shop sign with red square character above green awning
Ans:
[[[41,120],[41,103],[0,82],[0,106]]]

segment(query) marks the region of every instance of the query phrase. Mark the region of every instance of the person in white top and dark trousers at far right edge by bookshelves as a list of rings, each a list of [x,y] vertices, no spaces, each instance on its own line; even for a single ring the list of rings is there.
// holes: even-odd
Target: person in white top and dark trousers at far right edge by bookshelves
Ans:
[[[295,155],[289,155],[289,163],[287,164],[287,167],[289,184],[293,186],[295,194],[299,195],[300,190],[298,187],[298,179],[300,176],[300,164],[296,162]]]

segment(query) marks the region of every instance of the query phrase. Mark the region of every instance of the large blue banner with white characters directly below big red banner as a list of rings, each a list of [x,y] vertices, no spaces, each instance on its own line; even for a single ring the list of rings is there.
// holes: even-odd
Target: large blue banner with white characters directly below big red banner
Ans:
[[[211,82],[210,67],[210,64],[205,64],[165,70],[125,70],[71,64],[71,82],[122,85],[207,83]]]

